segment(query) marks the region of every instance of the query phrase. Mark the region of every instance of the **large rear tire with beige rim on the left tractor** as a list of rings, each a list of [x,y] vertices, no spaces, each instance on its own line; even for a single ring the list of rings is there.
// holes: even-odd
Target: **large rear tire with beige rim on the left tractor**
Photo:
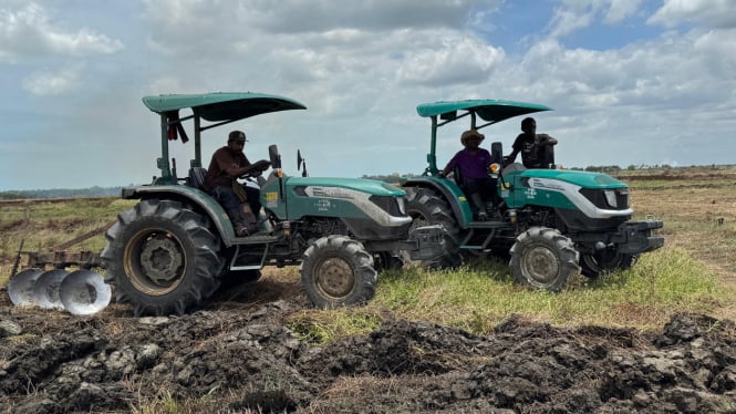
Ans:
[[[224,260],[208,219],[180,203],[146,199],[121,213],[102,252],[105,282],[136,317],[183,314],[219,286]]]

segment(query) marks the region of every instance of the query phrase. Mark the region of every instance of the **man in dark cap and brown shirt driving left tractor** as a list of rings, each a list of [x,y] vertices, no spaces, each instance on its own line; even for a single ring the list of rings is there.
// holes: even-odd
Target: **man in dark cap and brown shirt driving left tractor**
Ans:
[[[271,165],[266,159],[251,164],[242,152],[245,145],[246,134],[232,131],[227,145],[212,154],[205,177],[205,189],[225,208],[239,237],[258,231],[256,215],[261,205],[258,188],[243,186],[237,178],[243,174],[258,176]]]

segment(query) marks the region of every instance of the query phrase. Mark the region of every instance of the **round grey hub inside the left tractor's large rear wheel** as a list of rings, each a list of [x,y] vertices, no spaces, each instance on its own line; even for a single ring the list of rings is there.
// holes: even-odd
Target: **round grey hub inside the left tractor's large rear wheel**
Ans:
[[[176,280],[182,261],[177,244],[167,237],[158,236],[146,241],[141,251],[143,270],[157,284]]]

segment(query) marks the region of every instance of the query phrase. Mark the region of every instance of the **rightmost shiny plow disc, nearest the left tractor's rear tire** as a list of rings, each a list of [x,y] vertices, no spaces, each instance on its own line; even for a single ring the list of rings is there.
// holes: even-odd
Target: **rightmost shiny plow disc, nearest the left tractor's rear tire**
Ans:
[[[93,314],[107,307],[112,290],[102,275],[91,270],[77,270],[62,280],[59,297],[68,312]]]

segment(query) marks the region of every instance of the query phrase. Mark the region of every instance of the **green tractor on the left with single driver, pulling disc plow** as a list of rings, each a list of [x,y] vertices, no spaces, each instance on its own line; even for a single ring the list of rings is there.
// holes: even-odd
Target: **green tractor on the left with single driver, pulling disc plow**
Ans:
[[[443,255],[444,230],[412,228],[404,190],[376,180],[312,178],[305,166],[302,176],[287,176],[276,145],[269,147],[267,178],[241,177],[260,187],[261,231],[237,237],[224,208],[203,190],[201,133],[305,106],[257,93],[146,96],[143,102],[160,117],[160,176],[123,188],[124,199],[138,203],[118,215],[101,253],[105,282],[136,315],[194,311],[224,280],[257,280],[265,266],[299,265],[302,287],[319,308],[360,304],[373,298],[379,270],[402,266],[396,252],[408,251],[413,260]],[[180,117],[182,110],[191,114]],[[188,141],[186,121],[194,124],[194,158],[179,177],[168,149],[175,139]]]

